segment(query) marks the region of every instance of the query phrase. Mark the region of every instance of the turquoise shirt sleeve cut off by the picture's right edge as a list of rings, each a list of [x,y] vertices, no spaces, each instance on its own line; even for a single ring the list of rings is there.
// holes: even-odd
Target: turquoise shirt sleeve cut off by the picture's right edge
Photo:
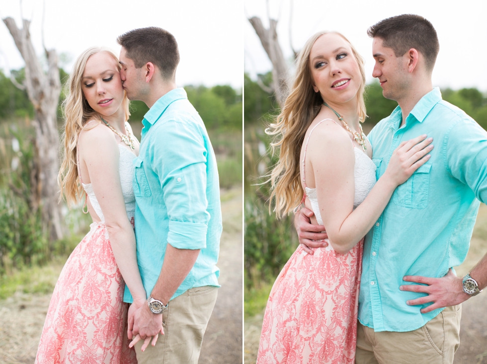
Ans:
[[[445,139],[446,163],[452,175],[487,202],[487,133],[470,119],[456,123]]]

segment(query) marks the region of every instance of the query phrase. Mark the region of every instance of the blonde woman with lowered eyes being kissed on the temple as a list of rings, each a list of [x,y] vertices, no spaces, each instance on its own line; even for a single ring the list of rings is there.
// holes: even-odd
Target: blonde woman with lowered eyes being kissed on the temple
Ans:
[[[59,184],[70,206],[85,197],[93,223],[58,279],[36,363],[137,363],[124,339],[123,292],[125,281],[135,302],[146,300],[133,229],[132,160],[139,142],[127,123],[117,56],[87,49],[68,86]]]

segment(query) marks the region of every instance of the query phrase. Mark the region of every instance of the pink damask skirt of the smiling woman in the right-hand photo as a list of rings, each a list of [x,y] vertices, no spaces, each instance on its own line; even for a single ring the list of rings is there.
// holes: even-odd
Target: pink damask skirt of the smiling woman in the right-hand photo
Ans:
[[[265,308],[257,364],[353,364],[363,239],[347,254],[301,245]]]

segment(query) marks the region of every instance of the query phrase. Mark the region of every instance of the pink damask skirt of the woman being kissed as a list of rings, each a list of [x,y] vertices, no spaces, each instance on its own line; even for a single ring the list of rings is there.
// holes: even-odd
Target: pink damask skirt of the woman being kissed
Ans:
[[[124,287],[106,226],[92,223],[56,283],[35,363],[136,364]]]

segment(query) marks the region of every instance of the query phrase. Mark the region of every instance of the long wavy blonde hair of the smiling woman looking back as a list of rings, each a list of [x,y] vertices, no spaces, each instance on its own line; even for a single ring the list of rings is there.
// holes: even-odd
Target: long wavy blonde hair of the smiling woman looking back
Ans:
[[[320,92],[313,90],[309,58],[311,49],[317,39],[328,33],[318,32],[308,39],[304,45],[296,60],[296,76],[281,113],[276,117],[275,123],[270,124],[266,129],[267,134],[274,136],[274,140],[271,143],[272,152],[279,152],[279,161],[270,173],[272,188],[270,201],[275,200],[274,211],[278,218],[299,206],[303,197],[303,189],[299,178],[301,146],[303,145],[306,131],[318,115],[324,101]],[[338,34],[350,43],[342,34],[333,33]],[[357,92],[357,97],[359,120],[363,122],[367,117],[364,102],[364,59],[357,53],[351,43],[350,47],[362,76],[362,83]]]

